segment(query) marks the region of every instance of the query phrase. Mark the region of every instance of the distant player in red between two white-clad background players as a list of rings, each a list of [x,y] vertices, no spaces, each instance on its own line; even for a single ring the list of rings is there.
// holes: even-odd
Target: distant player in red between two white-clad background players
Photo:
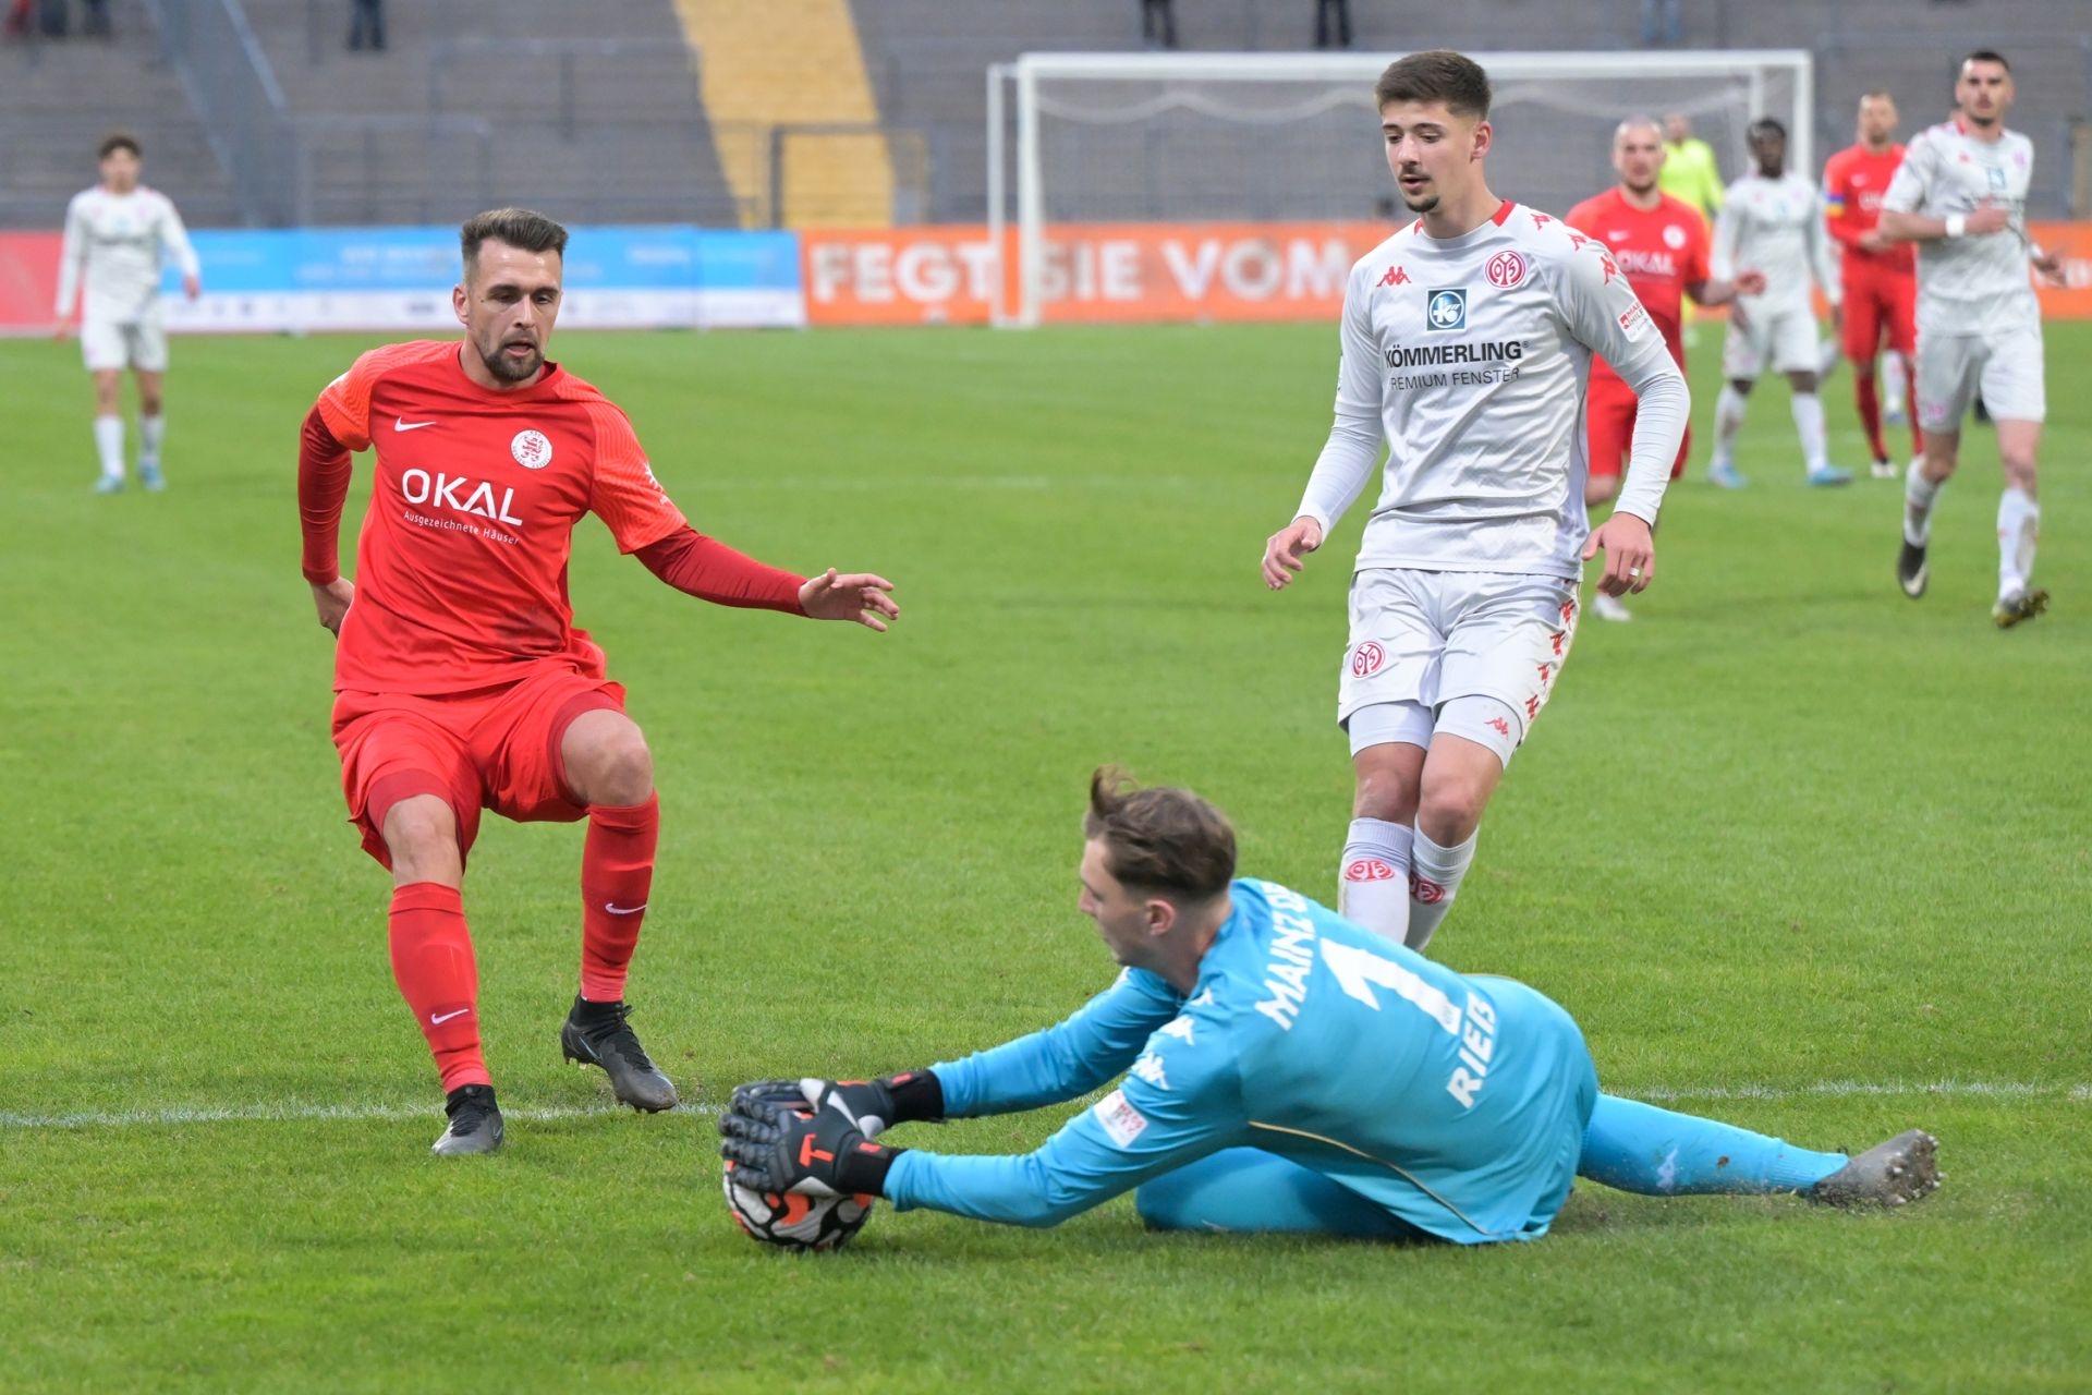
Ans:
[[[1918,351],[1918,264],[1910,243],[1889,243],[1874,226],[1881,222],[1881,197],[1904,163],[1904,146],[1895,142],[1895,98],[1868,92],[1860,98],[1860,140],[1845,146],[1824,165],[1824,226],[1843,249],[1845,276],[1845,358],[1851,360],[1851,391],[1860,404],[1860,425],[1874,450],[1874,479],[1897,479],[1902,471],[1889,460],[1881,439],[1881,399],[1874,387],[1874,353],[1883,335],[1889,339],[1883,381],[1889,389],[1889,422],[1902,425],[1904,389],[1910,385],[1910,364]],[[1925,450],[1916,422],[1910,427],[1910,448]]]

